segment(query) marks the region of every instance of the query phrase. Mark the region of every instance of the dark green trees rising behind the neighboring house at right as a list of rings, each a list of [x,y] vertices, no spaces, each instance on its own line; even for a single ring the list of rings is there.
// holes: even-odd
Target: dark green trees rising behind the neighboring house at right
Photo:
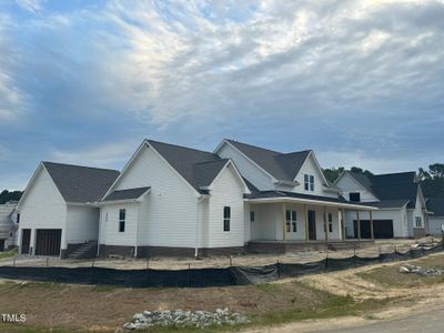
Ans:
[[[345,169],[343,167],[324,169],[324,175],[330,183],[334,183],[344,170]],[[355,173],[363,173],[365,175],[373,174],[371,171],[363,170],[362,168],[357,167],[352,167],[350,171]],[[431,164],[428,165],[427,170],[420,168],[417,171],[417,175],[421,183],[421,189],[423,190],[425,198],[444,198],[443,163]]]

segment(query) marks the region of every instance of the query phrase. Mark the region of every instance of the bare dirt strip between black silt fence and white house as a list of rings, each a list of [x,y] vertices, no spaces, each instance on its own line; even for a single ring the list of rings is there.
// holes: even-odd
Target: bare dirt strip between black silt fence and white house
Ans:
[[[366,244],[365,248],[356,249],[356,255],[360,256],[377,256],[380,253],[391,253],[395,249],[397,251],[407,251],[416,243],[414,240],[387,240],[375,241],[375,243]],[[354,254],[354,249],[345,249],[337,251],[295,251],[285,254],[243,254],[234,256],[212,256],[199,260],[183,258],[154,258],[150,260],[142,259],[94,259],[94,260],[59,260],[57,258],[29,258],[17,256],[1,260],[0,265],[17,266],[98,266],[119,270],[140,270],[159,269],[159,270],[185,270],[189,268],[228,268],[230,265],[239,266],[259,266],[281,263],[305,263],[314,262],[329,258],[347,258]]]

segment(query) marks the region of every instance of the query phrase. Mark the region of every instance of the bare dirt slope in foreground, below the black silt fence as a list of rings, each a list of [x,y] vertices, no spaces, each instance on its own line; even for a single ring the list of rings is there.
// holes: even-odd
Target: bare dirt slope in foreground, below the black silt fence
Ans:
[[[444,254],[433,254],[412,262],[441,266],[444,263]],[[123,289],[54,283],[17,283],[3,280],[0,283],[0,304],[2,304],[2,312],[27,313],[27,325],[112,332],[129,321],[134,313],[143,310],[214,311],[216,307],[229,307],[231,311],[241,312],[251,319],[279,316],[281,313],[303,314],[304,312],[310,317],[310,313],[324,311],[325,304],[337,303],[339,306],[344,302],[349,304],[350,296],[353,297],[353,302],[357,302],[356,307],[361,303],[371,303],[373,300],[391,301],[390,306],[393,307],[390,310],[384,306],[384,311],[381,312],[381,309],[375,306],[377,313],[373,313],[371,310],[366,311],[367,319],[373,319],[401,315],[412,306],[434,306],[434,304],[443,303],[443,283],[423,283],[412,289],[402,285],[387,286],[377,281],[362,278],[362,273],[372,272],[375,269],[385,269],[393,274],[401,274],[397,272],[400,264],[398,262],[379,264],[300,279],[286,279],[261,285],[208,289]],[[349,311],[353,313],[353,309],[349,309]],[[341,321],[336,319],[336,324],[339,325],[343,321],[354,323],[366,320],[362,313],[357,316],[356,313],[353,314],[354,316]],[[302,327],[310,331],[310,327],[314,326],[321,330],[329,327],[334,321],[300,322],[297,327],[301,330],[297,331],[303,331]],[[313,325],[313,323],[316,324]],[[279,327],[281,327],[279,331],[270,330],[272,332],[294,332],[294,324]],[[261,327],[259,331],[253,330],[252,332],[266,330],[269,329]]]

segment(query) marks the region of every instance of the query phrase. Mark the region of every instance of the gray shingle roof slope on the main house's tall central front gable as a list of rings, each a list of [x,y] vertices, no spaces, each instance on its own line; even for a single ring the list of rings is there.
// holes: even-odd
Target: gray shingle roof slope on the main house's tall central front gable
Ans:
[[[198,192],[209,186],[228,160],[216,154],[191,148],[147,140]]]

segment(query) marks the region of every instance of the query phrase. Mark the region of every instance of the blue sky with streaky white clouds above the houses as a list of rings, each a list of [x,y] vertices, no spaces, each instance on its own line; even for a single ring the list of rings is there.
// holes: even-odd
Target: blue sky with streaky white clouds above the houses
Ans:
[[[444,1],[0,1],[0,189],[143,138],[444,162]]]

